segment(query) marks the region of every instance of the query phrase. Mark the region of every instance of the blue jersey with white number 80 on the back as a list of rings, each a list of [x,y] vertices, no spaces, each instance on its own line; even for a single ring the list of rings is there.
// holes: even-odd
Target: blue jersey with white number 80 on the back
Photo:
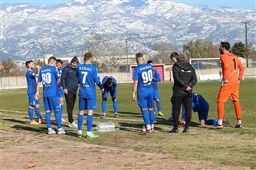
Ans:
[[[39,73],[39,82],[43,84],[43,97],[58,96],[58,70],[55,66],[44,66]]]

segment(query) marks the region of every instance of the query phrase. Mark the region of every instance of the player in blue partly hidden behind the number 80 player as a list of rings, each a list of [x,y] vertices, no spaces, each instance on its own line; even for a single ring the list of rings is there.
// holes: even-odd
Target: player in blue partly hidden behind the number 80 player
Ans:
[[[59,88],[59,105],[60,105],[60,112],[63,115],[63,105],[64,105],[64,92],[63,87],[61,85],[61,74],[63,73],[63,61],[60,59],[57,59],[56,67],[58,69],[58,88]],[[62,122],[65,122],[63,118],[61,118]]]

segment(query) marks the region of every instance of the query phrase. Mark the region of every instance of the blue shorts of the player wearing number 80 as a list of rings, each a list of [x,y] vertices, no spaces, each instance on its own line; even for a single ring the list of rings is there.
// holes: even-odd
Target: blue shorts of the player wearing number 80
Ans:
[[[46,112],[60,109],[59,97],[43,97],[43,109]]]

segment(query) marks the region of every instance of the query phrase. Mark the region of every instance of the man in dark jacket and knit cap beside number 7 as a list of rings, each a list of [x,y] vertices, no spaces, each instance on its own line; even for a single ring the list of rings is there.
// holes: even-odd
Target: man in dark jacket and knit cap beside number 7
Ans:
[[[79,81],[76,73],[76,67],[78,64],[78,58],[73,57],[71,59],[71,64],[67,65],[63,69],[63,73],[61,75],[61,85],[63,86],[63,92],[65,94],[67,104],[68,126],[73,128],[77,128],[77,124],[75,124],[75,121],[73,119],[73,109],[75,105],[76,91]]]

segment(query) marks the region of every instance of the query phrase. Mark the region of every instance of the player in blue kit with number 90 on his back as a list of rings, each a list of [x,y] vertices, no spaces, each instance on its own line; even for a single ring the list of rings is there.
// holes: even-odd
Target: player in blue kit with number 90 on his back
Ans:
[[[137,91],[138,105],[146,126],[146,133],[151,133],[154,132],[155,121],[152,65],[144,64],[143,53],[136,53],[136,63],[138,66],[133,70],[132,100],[136,101]]]

